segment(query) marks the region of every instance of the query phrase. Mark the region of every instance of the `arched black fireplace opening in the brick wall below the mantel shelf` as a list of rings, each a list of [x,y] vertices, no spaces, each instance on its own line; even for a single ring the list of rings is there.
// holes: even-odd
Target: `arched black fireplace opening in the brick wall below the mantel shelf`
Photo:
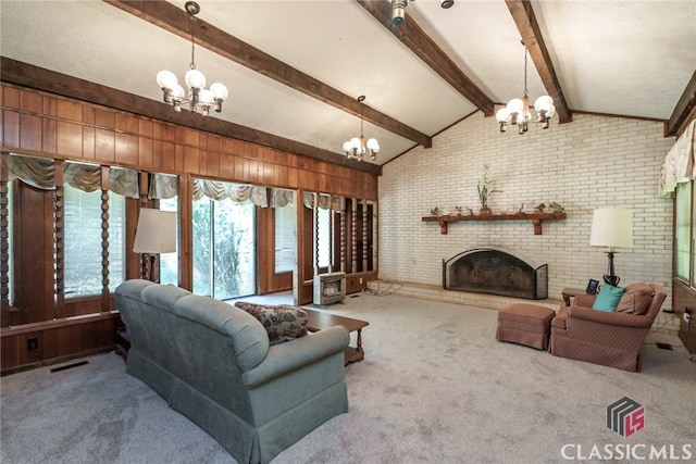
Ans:
[[[548,298],[548,265],[534,267],[505,251],[480,248],[443,260],[447,290],[544,300]]]

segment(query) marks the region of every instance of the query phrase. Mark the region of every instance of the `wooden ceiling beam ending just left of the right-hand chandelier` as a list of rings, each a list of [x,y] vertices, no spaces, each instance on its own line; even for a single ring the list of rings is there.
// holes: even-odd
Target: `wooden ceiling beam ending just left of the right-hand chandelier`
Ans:
[[[391,27],[391,5],[384,0],[357,0],[418,58],[486,116],[495,114],[495,102],[474,84],[414,21]]]

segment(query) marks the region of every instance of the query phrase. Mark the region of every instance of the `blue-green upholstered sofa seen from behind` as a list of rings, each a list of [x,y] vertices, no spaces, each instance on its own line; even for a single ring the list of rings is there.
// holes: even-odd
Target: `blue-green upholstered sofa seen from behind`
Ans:
[[[239,463],[268,463],[348,411],[344,327],[270,346],[253,316],[178,287],[127,280],[115,298],[130,339],[126,372]]]

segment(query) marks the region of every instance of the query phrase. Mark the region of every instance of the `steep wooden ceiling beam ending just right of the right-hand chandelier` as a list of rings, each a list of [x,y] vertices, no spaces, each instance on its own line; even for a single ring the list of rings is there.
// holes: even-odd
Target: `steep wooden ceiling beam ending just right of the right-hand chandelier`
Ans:
[[[556,76],[532,3],[530,0],[505,0],[505,2],[508,5],[508,10],[510,10],[510,14],[512,14],[512,20],[517,24],[518,30],[520,30],[522,41],[527,48],[530,57],[532,57],[532,62],[534,62],[534,66],[542,77],[546,91],[554,99],[559,122],[561,124],[570,123],[573,117],[566,102],[563,89]]]

